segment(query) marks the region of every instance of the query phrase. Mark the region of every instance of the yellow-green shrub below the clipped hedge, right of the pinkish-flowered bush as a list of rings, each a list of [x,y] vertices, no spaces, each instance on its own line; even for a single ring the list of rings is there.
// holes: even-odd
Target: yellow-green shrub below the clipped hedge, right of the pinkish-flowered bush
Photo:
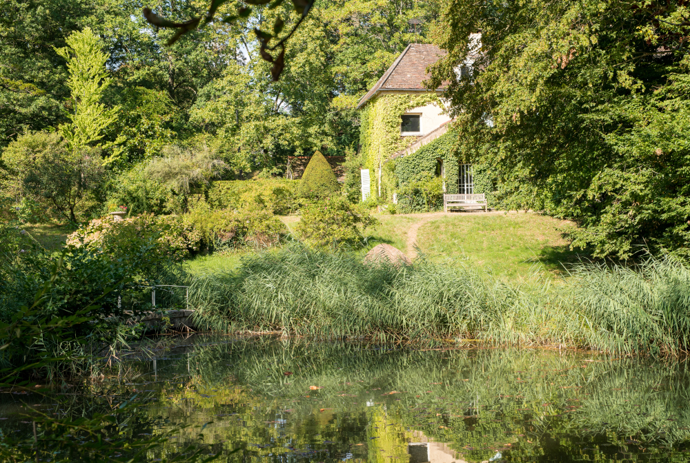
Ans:
[[[200,202],[185,220],[213,251],[266,248],[277,245],[287,234],[284,223],[264,209],[211,210]]]

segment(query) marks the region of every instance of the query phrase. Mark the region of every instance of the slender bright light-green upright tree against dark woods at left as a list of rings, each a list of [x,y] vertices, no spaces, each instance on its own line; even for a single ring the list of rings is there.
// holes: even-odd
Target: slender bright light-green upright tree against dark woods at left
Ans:
[[[93,145],[103,138],[103,131],[117,121],[119,107],[107,109],[101,98],[112,83],[106,71],[108,54],[101,50],[101,42],[91,28],[72,32],[67,46],[56,49],[67,60],[70,73],[71,123],[60,126],[60,132],[72,148]]]

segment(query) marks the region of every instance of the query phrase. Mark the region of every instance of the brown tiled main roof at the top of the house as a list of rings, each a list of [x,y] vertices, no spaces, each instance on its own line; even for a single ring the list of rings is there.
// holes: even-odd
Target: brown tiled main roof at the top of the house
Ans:
[[[364,106],[381,90],[428,91],[422,81],[428,79],[426,68],[438,61],[446,52],[428,43],[410,43],[404,52],[395,59],[390,68],[381,76],[376,85],[357,103],[357,109]]]

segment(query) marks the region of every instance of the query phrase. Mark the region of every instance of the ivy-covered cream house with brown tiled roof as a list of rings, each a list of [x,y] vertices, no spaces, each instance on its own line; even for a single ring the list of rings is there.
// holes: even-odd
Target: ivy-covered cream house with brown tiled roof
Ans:
[[[473,34],[480,44],[480,35]],[[411,43],[357,103],[360,154],[363,159],[362,198],[377,194],[395,202],[397,187],[424,172],[442,176],[449,193],[473,193],[472,168],[453,154],[451,118],[444,87],[428,90],[427,68],[445,55],[436,45]],[[458,66],[459,76],[473,59]]]

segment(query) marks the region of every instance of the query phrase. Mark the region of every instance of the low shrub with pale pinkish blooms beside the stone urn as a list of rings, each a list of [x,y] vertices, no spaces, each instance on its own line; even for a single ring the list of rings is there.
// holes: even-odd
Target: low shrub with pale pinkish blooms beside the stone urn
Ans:
[[[129,256],[146,247],[150,258],[181,260],[199,250],[201,233],[182,216],[144,214],[124,220],[107,216],[80,227],[68,237],[67,244],[113,258]]]

